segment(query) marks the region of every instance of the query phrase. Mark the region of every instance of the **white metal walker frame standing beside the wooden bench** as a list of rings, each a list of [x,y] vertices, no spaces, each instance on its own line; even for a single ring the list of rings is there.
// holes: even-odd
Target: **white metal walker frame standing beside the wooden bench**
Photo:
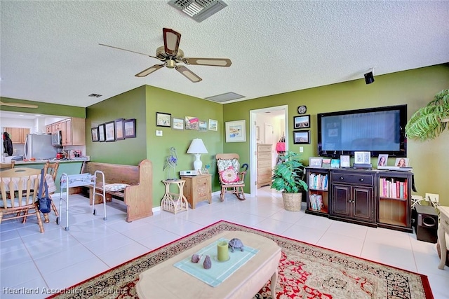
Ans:
[[[99,195],[103,198],[103,209],[104,215],[103,220],[106,220],[106,194],[105,189],[102,188],[102,193],[97,192],[97,175],[101,174],[102,186],[105,186],[105,174],[100,170],[96,170],[93,174],[65,174],[63,173],[60,181],[60,200],[59,200],[59,210],[62,208],[62,201],[65,200],[65,230],[69,230],[69,188],[81,187],[81,186],[93,186],[93,198],[95,195]],[[65,199],[62,198],[63,190],[65,188]],[[95,202],[92,202],[92,214],[97,214],[95,209]],[[59,224],[59,223],[58,223]]]

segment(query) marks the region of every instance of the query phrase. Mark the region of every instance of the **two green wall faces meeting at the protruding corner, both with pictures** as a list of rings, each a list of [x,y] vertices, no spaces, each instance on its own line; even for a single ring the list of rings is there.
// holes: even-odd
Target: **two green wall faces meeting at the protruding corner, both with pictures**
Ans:
[[[220,190],[213,158],[215,153],[222,152],[221,104],[144,85],[89,106],[86,112],[86,153],[91,155],[92,161],[123,165],[138,165],[145,158],[152,161],[153,207],[160,206],[165,192],[161,181],[168,178],[168,170],[164,172],[163,166],[170,155],[170,147],[175,147],[177,151],[177,174],[180,170],[193,169],[194,155],[189,155],[186,151],[194,138],[203,139],[209,153],[201,155],[201,161],[203,166],[208,164],[211,167],[213,190]],[[218,130],[199,132],[157,127],[156,112],[170,113],[172,117],[182,119],[185,116],[196,116],[205,121],[214,119],[219,123]],[[137,137],[115,142],[91,141],[91,127],[116,118],[135,118]],[[163,136],[157,137],[156,130],[161,130]]]

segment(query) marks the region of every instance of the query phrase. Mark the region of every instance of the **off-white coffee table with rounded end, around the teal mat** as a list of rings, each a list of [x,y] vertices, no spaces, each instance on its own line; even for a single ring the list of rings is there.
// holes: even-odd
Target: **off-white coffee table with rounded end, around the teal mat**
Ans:
[[[253,249],[259,249],[256,255],[248,260],[219,286],[213,287],[197,279],[191,274],[178,269],[175,263],[215,242],[220,237],[242,240]],[[251,232],[222,232],[193,248],[160,263],[139,277],[136,289],[139,298],[253,298],[271,279],[272,294],[278,277],[278,265],[281,259],[281,248],[271,239]],[[276,295],[272,295],[276,298]]]

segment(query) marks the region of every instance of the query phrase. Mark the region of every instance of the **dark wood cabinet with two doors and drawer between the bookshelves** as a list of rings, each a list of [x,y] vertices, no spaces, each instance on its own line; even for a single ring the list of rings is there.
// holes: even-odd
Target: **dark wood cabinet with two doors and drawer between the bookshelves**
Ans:
[[[329,218],[376,227],[374,204],[375,174],[331,172],[332,204]]]

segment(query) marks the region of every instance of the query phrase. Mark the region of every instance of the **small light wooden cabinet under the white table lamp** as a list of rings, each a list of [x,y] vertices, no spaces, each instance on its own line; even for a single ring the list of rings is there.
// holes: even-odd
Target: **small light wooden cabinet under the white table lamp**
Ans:
[[[187,197],[192,209],[195,209],[197,202],[207,200],[212,202],[212,187],[210,174],[200,174],[198,176],[181,176],[185,180],[184,194]]]

